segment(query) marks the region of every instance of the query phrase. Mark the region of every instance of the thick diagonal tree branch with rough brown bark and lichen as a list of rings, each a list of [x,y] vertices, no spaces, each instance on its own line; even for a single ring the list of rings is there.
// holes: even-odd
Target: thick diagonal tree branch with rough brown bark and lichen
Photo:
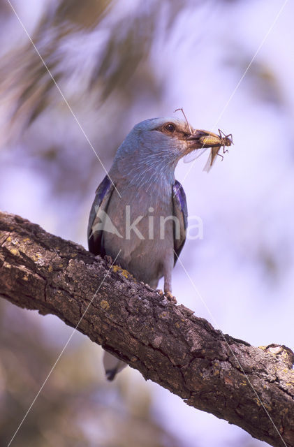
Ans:
[[[117,265],[5,213],[0,294],[73,327],[91,302],[78,330],[93,342],[187,404],[272,446],[294,447],[294,354],[286,346],[223,335]]]

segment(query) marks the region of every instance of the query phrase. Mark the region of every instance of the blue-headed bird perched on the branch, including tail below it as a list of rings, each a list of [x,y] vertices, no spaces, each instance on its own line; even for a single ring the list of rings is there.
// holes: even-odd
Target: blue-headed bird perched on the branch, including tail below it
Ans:
[[[163,277],[169,298],[172,269],[186,240],[188,218],[175,167],[183,156],[202,149],[203,138],[210,134],[175,117],[136,124],[117,149],[91,207],[89,251],[115,259],[151,288],[156,289]],[[107,352],[103,364],[110,381],[126,366]]]

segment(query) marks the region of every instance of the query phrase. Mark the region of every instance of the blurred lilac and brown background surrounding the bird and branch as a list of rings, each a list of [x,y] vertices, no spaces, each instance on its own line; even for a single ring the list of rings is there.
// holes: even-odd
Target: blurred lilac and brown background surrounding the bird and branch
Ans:
[[[177,263],[173,292],[223,333],[293,349],[293,3],[236,91],[284,0],[12,3],[106,169],[134,124],[179,107],[198,129],[233,133],[235,145],[208,175],[208,154],[177,167],[204,233],[182,251],[193,284]],[[0,39],[0,208],[87,247],[105,172],[6,0]],[[72,329],[0,305],[4,446]],[[101,348],[76,332],[11,445],[262,444],[131,368],[107,383]]]

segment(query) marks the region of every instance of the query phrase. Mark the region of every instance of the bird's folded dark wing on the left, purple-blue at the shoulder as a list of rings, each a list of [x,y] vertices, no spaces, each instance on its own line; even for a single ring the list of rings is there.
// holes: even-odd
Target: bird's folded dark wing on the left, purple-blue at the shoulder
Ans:
[[[103,226],[105,222],[105,213],[108,203],[115,186],[112,184],[108,175],[104,177],[101,184],[96,189],[96,196],[91,207],[88,223],[88,245],[89,251],[95,255],[103,256]]]

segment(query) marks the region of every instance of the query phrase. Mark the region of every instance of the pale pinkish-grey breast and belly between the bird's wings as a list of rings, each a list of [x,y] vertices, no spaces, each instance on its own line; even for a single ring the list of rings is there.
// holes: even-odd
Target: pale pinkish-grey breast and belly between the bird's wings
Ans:
[[[173,257],[172,190],[152,193],[137,189],[114,192],[107,214],[112,230],[104,227],[106,254],[115,258],[136,278],[153,283],[163,274],[167,257]],[[113,231],[115,228],[115,232]]]

